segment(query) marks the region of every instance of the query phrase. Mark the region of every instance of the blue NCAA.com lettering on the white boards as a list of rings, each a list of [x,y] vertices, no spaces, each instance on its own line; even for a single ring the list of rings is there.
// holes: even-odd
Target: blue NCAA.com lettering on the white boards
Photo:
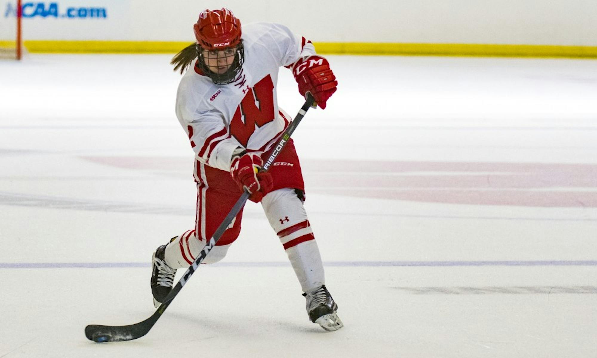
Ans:
[[[59,2],[23,2],[23,18],[107,18],[105,7],[60,6]],[[16,2],[8,2],[4,17],[16,17]]]

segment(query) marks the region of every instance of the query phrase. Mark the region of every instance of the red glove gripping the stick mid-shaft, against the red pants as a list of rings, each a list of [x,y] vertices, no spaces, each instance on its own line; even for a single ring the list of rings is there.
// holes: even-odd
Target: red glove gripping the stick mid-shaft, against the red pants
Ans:
[[[264,195],[272,190],[272,175],[268,172],[258,172],[263,165],[261,157],[256,153],[245,153],[232,159],[230,175],[241,188],[246,188],[251,196],[249,200],[260,202]]]

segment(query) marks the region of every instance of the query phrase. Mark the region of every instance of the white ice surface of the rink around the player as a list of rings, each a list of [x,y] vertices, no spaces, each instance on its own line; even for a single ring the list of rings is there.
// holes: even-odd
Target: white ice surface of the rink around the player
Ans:
[[[597,357],[594,60],[330,56],[293,138],[344,328],[249,203],[146,337],[88,341],[153,313],[151,253],[193,226],[169,59],[0,61],[0,357]]]

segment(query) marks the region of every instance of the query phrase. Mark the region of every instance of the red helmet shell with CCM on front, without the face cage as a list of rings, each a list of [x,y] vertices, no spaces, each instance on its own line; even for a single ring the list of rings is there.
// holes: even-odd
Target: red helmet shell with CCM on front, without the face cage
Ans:
[[[241,21],[227,8],[204,10],[193,30],[197,44],[204,50],[235,47],[241,41]]]

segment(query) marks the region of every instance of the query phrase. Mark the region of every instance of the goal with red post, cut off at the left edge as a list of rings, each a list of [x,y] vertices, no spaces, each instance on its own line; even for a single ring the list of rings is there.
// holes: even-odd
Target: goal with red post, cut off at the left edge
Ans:
[[[0,58],[21,58],[21,9],[21,0],[0,0]]]

